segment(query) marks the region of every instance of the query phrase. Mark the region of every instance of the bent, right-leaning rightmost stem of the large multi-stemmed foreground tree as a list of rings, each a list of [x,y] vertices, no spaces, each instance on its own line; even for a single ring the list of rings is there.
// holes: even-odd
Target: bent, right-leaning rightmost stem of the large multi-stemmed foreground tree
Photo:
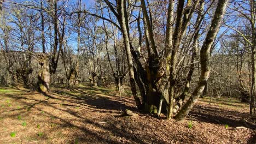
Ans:
[[[205,42],[203,43],[200,51],[201,75],[199,83],[197,84],[197,87],[195,88],[187,103],[182,107],[181,111],[179,111],[178,114],[175,116],[175,119],[179,121],[183,120],[191,111],[197,99],[200,97],[200,94],[202,93],[203,88],[205,87],[205,84],[208,80],[208,77],[210,75],[210,51],[213,41],[216,38],[216,35],[219,31],[219,27],[222,22],[222,17],[224,16],[227,3],[228,0],[219,0],[218,2],[210,30],[207,33]]]

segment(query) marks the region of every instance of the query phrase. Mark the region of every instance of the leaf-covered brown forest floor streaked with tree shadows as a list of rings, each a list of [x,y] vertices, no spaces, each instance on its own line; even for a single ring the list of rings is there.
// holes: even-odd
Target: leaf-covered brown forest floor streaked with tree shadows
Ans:
[[[249,106],[235,99],[200,99],[178,122],[139,112],[114,87],[56,86],[52,93],[0,87],[0,143],[256,143],[255,123],[245,122]],[[138,116],[120,117],[125,109]]]

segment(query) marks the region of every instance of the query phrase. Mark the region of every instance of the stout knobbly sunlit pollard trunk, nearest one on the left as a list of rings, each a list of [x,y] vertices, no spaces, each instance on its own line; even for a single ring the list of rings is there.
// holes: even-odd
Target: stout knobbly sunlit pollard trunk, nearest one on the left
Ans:
[[[40,92],[48,94],[50,93],[50,69],[48,56],[46,56],[45,53],[42,53],[38,58],[40,59],[41,65],[41,69],[38,73],[38,89]]]

